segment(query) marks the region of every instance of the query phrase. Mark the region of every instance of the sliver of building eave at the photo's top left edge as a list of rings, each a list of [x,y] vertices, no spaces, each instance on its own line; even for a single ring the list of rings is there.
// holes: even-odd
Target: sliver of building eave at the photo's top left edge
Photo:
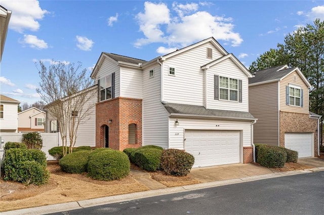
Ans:
[[[5,48],[11,11],[0,5],[0,62]]]

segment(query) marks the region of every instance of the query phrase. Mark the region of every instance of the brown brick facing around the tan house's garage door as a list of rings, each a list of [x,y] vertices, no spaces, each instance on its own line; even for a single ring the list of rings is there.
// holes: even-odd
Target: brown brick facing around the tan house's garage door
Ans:
[[[285,147],[285,133],[314,133],[314,156],[317,156],[317,119],[309,114],[280,111],[280,146]]]

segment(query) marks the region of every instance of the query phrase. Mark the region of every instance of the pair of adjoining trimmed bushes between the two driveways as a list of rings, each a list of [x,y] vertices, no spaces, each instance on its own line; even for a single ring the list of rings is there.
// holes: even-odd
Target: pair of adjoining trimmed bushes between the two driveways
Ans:
[[[298,152],[284,147],[256,144],[256,162],[267,168],[281,168],[287,162],[297,163]]]

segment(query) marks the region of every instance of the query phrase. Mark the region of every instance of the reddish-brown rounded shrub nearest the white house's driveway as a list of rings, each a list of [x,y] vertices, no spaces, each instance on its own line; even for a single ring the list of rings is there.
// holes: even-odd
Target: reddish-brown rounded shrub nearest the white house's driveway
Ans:
[[[161,169],[167,175],[186,176],[194,164],[194,156],[180,149],[166,149],[161,154]]]

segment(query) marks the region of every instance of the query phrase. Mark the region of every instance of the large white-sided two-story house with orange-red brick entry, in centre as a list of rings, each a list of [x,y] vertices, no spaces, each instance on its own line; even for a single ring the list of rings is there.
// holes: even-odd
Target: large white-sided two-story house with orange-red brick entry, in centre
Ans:
[[[96,146],[184,149],[194,167],[250,163],[252,74],[213,37],[144,61],[102,52]]]

